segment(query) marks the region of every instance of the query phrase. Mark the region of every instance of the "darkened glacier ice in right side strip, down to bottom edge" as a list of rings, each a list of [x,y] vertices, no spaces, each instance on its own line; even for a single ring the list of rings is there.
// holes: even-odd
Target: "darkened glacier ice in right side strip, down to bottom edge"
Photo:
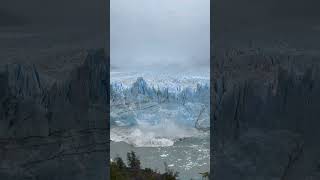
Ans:
[[[318,179],[319,54],[220,53],[212,88],[214,179]]]

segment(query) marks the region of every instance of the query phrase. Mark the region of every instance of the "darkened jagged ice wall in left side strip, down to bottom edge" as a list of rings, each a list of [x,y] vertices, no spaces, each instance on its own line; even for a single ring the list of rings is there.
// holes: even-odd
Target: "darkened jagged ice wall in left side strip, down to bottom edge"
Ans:
[[[0,179],[107,179],[108,59],[88,51],[65,80],[0,71]]]

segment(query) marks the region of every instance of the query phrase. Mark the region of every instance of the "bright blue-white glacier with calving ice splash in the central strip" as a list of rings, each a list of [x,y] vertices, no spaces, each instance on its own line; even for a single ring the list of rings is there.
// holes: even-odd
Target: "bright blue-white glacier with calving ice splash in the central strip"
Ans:
[[[172,146],[210,129],[209,76],[111,73],[111,140]]]

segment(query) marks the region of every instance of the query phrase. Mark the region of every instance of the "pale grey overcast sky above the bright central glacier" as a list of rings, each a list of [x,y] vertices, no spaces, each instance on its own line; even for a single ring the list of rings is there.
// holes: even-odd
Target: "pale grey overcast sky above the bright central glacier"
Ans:
[[[111,0],[110,13],[112,66],[209,69],[210,0]]]

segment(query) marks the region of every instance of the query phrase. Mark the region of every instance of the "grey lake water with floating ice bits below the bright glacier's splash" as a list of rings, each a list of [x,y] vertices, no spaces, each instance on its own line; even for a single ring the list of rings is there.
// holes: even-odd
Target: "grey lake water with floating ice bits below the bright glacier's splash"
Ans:
[[[210,139],[203,137],[184,138],[167,147],[134,147],[125,142],[111,142],[110,158],[117,156],[126,162],[129,151],[136,152],[142,168],[164,172],[164,163],[179,172],[181,180],[201,179],[199,173],[210,170]]]

